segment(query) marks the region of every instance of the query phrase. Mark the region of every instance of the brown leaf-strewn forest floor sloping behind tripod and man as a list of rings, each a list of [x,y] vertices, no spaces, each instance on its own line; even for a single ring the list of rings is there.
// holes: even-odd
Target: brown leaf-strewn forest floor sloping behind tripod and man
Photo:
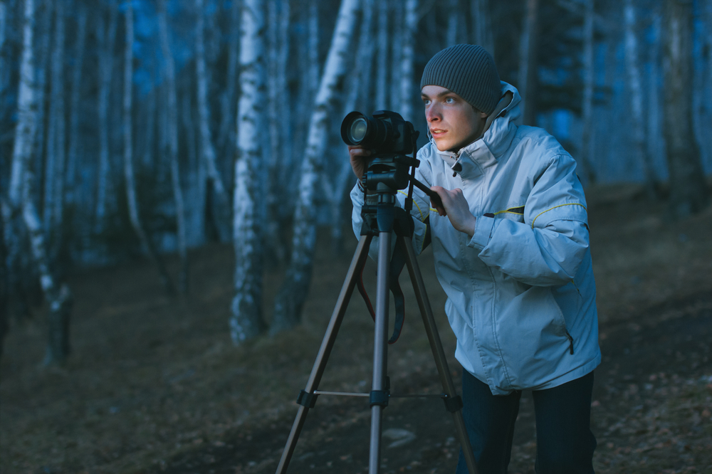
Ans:
[[[603,362],[595,372],[597,473],[712,473],[712,206],[673,222],[636,186],[587,190]],[[230,246],[191,253],[188,297],[162,290],[142,261],[85,270],[75,295],[72,355],[42,367],[44,309],[13,322],[0,359],[0,473],[273,473],[355,248],[319,240],[303,324],[233,347]],[[451,371],[454,336],[431,253],[419,258]],[[172,261],[172,270],[177,262]],[[375,265],[367,265],[373,290]],[[404,272],[407,274],[407,272]],[[265,280],[265,312],[283,269]],[[412,288],[389,347],[392,391],[441,391]],[[372,322],[352,297],[320,389],[367,391]],[[370,410],[321,396],[290,473],[367,472]],[[524,394],[511,473],[533,473],[533,403]],[[392,399],[384,473],[454,472],[458,443],[441,401]]]

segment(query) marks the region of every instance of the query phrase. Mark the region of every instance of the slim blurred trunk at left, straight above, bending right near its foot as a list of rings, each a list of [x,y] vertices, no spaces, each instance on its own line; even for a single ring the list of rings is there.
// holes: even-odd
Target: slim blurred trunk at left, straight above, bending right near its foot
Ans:
[[[168,293],[173,292],[173,285],[166,271],[163,261],[159,257],[156,249],[151,243],[143,225],[138,209],[138,200],[136,198],[136,184],[133,171],[133,138],[132,138],[132,85],[133,85],[133,6],[131,2],[126,4],[126,19],[125,19],[125,36],[124,43],[124,93],[122,101],[123,112],[123,138],[124,138],[124,182],[126,186],[126,200],[129,210],[129,218],[136,236],[138,237],[141,248],[144,253],[147,253],[149,258],[155,263],[158,268],[158,273],[161,278],[161,283],[166,288]]]

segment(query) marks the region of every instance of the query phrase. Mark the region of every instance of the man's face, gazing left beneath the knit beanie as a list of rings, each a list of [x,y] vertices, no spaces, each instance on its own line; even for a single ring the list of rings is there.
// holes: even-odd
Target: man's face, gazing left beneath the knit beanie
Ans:
[[[439,85],[426,85],[421,98],[430,134],[441,152],[459,152],[481,135],[487,115],[456,93]]]

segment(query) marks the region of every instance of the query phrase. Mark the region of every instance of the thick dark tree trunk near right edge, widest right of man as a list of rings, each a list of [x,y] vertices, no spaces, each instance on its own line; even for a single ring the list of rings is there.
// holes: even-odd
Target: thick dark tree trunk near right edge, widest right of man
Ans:
[[[701,211],[708,194],[693,134],[692,2],[667,0],[664,43],[664,130],[670,171],[670,206],[681,218]]]

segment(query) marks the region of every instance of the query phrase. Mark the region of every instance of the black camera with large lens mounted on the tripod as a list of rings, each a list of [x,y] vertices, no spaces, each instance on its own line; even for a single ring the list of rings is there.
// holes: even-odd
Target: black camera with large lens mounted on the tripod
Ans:
[[[418,135],[411,122],[390,110],[378,110],[372,117],[350,112],[341,123],[341,138],[346,144],[371,151],[365,187],[372,191],[379,189],[379,183],[392,192],[408,186],[409,170],[419,164],[414,153]]]

